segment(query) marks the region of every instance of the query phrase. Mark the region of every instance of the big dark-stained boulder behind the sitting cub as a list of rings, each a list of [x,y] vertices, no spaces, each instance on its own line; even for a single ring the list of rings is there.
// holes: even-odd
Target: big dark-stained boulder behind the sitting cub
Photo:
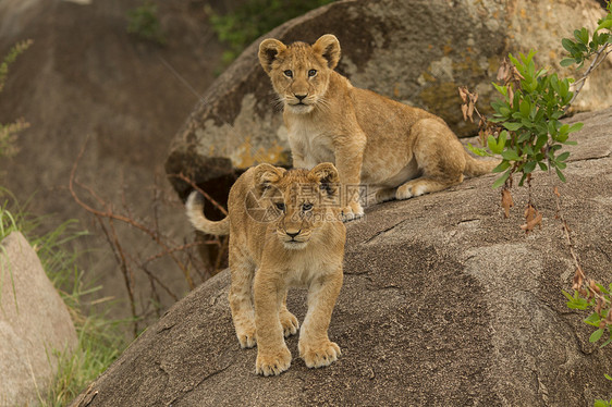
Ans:
[[[509,51],[527,53],[531,48],[538,50],[538,66],[574,75],[559,65],[561,38],[572,37],[583,25],[592,30],[601,15],[595,0],[351,0],[314,10],[266,37],[313,44],[332,33],[342,48],[338,70],[355,86],[425,108],[466,135],[475,126],[462,119],[458,86],[477,90],[479,109],[487,111],[501,59]],[[237,169],[290,162],[280,108],[257,60],[259,42],[212,84],[176,134],[166,163],[168,174],[182,172],[207,186],[231,173],[229,162]],[[575,107],[612,106],[611,75],[608,61]],[[181,181],[172,182],[180,195],[188,192]]]

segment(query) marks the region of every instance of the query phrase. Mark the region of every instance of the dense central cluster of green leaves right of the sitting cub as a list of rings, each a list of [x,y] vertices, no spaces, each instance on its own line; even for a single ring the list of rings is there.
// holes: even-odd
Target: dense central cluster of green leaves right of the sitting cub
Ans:
[[[497,124],[487,137],[487,147],[468,148],[479,156],[499,155],[500,164],[493,170],[502,175],[493,183],[493,188],[509,184],[513,173],[521,173],[518,183],[539,166],[542,171],[554,169],[559,178],[565,182],[562,170],[566,168],[570,152],[560,152],[563,145],[574,145],[568,140],[571,133],[582,128],[582,123],[562,124],[561,116],[570,103],[572,79],[559,78],[548,74],[544,69],[536,70],[535,51],[527,55],[521,53],[515,58],[509,55],[510,62],[502,64],[504,83],[493,83],[501,95],[501,100],[491,102],[493,115],[489,122]]]

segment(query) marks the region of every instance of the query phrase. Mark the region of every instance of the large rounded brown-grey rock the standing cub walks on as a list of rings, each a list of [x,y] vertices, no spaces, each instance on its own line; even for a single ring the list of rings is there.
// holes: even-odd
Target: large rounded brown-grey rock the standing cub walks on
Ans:
[[[584,270],[610,282],[612,109],[573,119],[560,186]],[[503,219],[494,175],[370,207],[350,223],[345,280],[330,337],[338,362],[255,374],[228,304],[229,273],[207,281],[150,326],[73,406],[586,406],[610,398],[611,347],[590,344],[565,306],[572,258],[554,219],[552,178],[537,172],[543,227],[526,235],[525,188]],[[289,308],[305,314],[305,292]]]

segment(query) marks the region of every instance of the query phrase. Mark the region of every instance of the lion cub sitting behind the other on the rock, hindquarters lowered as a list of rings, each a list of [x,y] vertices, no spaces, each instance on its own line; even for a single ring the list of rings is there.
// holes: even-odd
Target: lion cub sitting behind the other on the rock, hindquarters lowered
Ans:
[[[284,103],[294,166],[334,162],[342,184],[382,187],[380,202],[441,190],[498,164],[468,156],[442,119],[353,87],[333,71],[339,60],[331,34],[313,46],[277,39],[259,46],[259,62]],[[364,210],[353,197],[343,213],[350,220]]]

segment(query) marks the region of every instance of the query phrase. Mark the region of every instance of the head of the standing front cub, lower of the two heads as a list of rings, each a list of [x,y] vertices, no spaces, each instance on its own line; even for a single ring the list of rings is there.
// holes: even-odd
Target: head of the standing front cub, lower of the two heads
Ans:
[[[262,221],[272,224],[273,233],[287,249],[304,249],[310,242],[325,244],[329,233],[326,226],[342,222],[338,171],[329,162],[310,171],[260,164],[254,181],[256,205],[267,213]]]

